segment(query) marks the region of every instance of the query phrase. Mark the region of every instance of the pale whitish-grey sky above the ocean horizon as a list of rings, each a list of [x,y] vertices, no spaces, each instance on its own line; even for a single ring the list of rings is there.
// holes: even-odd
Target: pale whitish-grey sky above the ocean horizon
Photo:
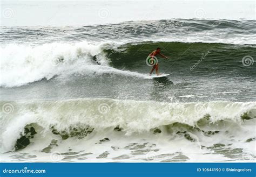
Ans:
[[[1,2],[1,26],[80,26],[172,18],[255,20],[255,1]]]

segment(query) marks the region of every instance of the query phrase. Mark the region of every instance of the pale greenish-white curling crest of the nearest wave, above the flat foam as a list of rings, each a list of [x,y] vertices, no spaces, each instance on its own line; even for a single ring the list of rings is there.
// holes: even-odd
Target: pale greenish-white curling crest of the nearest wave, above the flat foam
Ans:
[[[103,103],[108,105],[107,112],[99,111]],[[53,129],[57,134],[74,134],[75,129],[86,134],[117,128],[129,135],[177,123],[183,125],[183,129],[188,126],[200,130],[227,130],[233,128],[233,124],[241,125],[244,119],[256,118],[256,102],[163,103],[93,98],[11,104],[15,108],[13,114],[1,112],[1,141],[9,149],[30,124],[36,125],[35,129],[41,134]]]

